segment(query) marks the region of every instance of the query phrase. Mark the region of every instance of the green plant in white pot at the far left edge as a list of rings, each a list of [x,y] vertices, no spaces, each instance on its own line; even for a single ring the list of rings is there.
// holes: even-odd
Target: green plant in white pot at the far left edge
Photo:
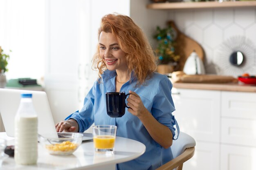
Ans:
[[[8,60],[9,55],[5,54],[0,46],[0,88],[5,88],[6,86],[6,76],[4,73],[8,71]]]

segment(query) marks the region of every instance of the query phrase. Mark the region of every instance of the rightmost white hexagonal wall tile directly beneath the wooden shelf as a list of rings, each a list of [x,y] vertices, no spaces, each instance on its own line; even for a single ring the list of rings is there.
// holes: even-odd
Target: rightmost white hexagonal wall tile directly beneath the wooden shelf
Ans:
[[[246,16],[246,17],[245,17]],[[246,28],[255,21],[255,9],[236,9],[235,22],[241,27]]]

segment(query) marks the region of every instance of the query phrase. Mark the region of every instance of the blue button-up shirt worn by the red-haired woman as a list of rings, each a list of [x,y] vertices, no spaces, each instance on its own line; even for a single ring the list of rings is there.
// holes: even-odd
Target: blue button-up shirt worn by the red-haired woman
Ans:
[[[106,70],[101,77],[101,82],[96,81],[84,99],[84,106],[80,112],[74,113],[70,118],[79,124],[79,132],[84,132],[93,123],[95,125],[116,125],[117,136],[134,139],[146,146],[146,152],[139,158],[125,163],[117,164],[117,170],[155,170],[162,164],[173,159],[171,148],[164,149],[150,136],[145,126],[138,117],[128,112],[123,117],[112,118],[106,112],[107,92],[115,92],[115,71]],[[174,125],[177,122],[172,115],[175,110],[171,97],[172,84],[167,76],[154,73],[144,85],[136,87],[135,78],[126,82],[120,91],[126,94],[129,90],[137,93],[144,106],[157,121],[170,128],[175,135]]]

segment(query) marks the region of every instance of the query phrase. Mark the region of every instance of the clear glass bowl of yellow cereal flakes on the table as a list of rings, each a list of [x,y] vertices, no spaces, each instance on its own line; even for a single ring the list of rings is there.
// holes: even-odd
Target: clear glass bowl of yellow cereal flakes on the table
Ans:
[[[71,155],[82,143],[83,134],[58,132],[39,135],[39,142],[51,155]]]

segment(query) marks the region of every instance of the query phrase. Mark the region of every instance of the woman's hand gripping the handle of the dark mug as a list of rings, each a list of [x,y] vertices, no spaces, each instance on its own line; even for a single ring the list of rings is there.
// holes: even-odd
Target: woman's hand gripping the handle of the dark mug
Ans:
[[[129,91],[129,93],[131,93],[131,95],[129,95],[127,99],[127,106],[130,107],[128,108],[128,111],[137,117],[142,116],[144,113],[146,113],[146,108],[142,103],[139,95],[133,91]]]

